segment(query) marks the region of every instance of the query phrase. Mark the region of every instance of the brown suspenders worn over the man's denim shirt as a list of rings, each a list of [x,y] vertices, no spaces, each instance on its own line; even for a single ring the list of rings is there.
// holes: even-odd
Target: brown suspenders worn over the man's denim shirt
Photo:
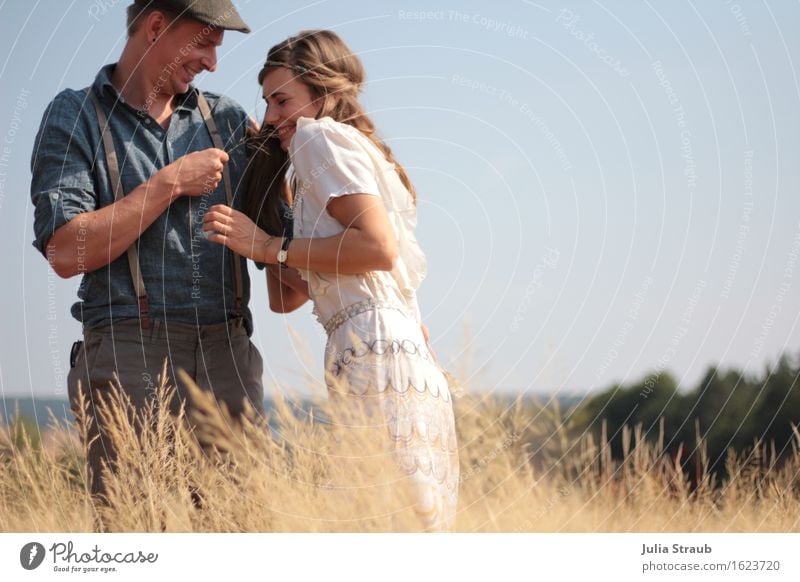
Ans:
[[[103,149],[105,150],[106,162],[108,164],[108,174],[109,178],[111,179],[111,187],[114,190],[114,202],[116,202],[121,199],[124,194],[122,192],[122,181],[119,171],[119,162],[117,160],[117,152],[114,149],[114,139],[108,129],[108,119],[106,118],[103,108],[100,106],[100,101],[97,99],[97,96],[90,87],[87,87],[86,91],[89,95],[89,98],[92,100],[92,103],[94,104],[94,109],[97,113],[97,121],[100,124],[100,132],[103,138]],[[214,147],[220,150],[224,149],[222,147],[222,138],[219,135],[219,131],[217,131],[217,124],[214,123],[214,117],[211,115],[211,108],[208,106],[208,101],[206,101],[206,98],[201,91],[197,91],[197,105],[200,108],[200,113],[203,115],[203,121],[206,124],[208,133],[211,135],[211,141],[213,142]],[[228,200],[228,206],[233,206],[233,190],[231,188],[231,177],[230,173],[228,172],[227,164],[222,170],[222,180],[225,186],[225,195]],[[139,318],[142,329],[150,329],[152,325],[150,320],[150,304],[147,300],[147,291],[145,290],[144,280],[142,279],[142,269],[139,265],[139,251],[137,243],[138,241],[134,242],[128,248],[128,265],[131,269],[133,287],[136,291],[136,296],[139,301]],[[234,302],[234,313],[236,314],[237,318],[241,318],[243,303],[242,287],[244,286],[242,281],[242,264],[236,253],[233,251],[229,252],[231,254],[231,261],[233,263],[234,294],[236,297]]]

